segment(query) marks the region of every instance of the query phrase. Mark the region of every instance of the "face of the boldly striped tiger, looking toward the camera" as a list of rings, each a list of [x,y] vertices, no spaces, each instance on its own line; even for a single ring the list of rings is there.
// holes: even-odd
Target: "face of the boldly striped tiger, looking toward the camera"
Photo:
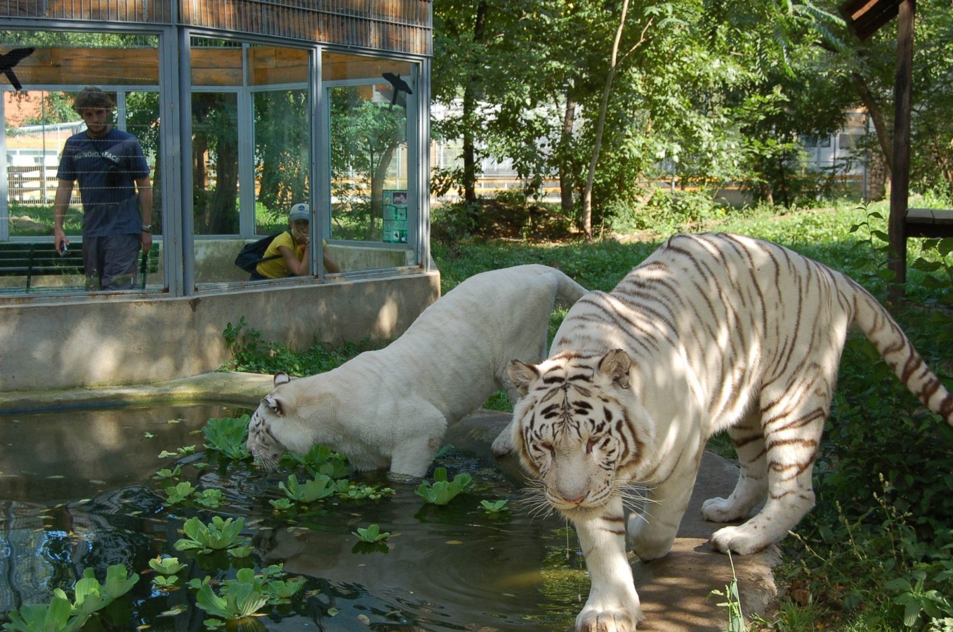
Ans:
[[[569,518],[624,495],[643,457],[631,365],[628,354],[616,350],[509,366],[522,396],[514,409],[517,453],[542,480],[549,503]]]

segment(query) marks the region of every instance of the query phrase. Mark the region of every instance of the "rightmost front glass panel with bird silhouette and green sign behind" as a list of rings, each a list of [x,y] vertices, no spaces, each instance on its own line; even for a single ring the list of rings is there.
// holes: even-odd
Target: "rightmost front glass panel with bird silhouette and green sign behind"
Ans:
[[[331,83],[331,243],[343,270],[414,265],[416,192],[410,189],[411,65],[325,55]],[[338,84],[338,85],[335,85]]]

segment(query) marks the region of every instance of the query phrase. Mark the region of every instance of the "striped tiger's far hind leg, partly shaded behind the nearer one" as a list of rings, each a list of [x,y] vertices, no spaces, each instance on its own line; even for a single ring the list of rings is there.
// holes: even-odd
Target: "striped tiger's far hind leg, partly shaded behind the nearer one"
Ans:
[[[742,520],[768,493],[767,450],[761,432],[760,413],[743,418],[728,429],[728,436],[738,452],[740,473],[735,491],[727,499],[707,499],[701,505],[701,516],[713,522]]]

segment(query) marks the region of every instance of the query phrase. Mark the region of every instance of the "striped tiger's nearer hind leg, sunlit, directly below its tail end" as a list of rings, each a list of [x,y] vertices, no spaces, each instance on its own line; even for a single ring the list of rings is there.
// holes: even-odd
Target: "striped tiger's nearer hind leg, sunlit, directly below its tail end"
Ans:
[[[814,507],[811,470],[830,405],[833,376],[812,374],[787,388],[761,394],[767,500],[740,526],[719,529],[711,544],[720,551],[756,553],[782,540]]]

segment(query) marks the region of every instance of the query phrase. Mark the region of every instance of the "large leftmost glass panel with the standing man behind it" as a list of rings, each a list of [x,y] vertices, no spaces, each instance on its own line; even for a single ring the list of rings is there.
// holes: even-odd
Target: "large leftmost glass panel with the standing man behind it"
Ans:
[[[156,158],[162,154],[157,45],[154,35],[0,31],[0,51],[13,61],[6,85],[0,85],[0,146],[6,149],[0,166],[7,176],[0,185],[0,237],[12,242],[0,243],[0,255],[3,266],[19,264],[24,270],[23,275],[0,276],[3,293],[164,286],[161,257],[152,255],[143,276],[141,254],[135,252],[147,195],[154,193],[140,185],[152,184]],[[33,90],[34,85],[45,89]],[[143,86],[152,91],[144,92]],[[75,110],[75,97],[87,87],[99,91],[90,97],[95,103]],[[52,236],[60,176],[70,184],[62,190],[61,237],[69,241],[62,256],[53,250]],[[152,214],[156,237],[162,216],[157,201]],[[91,252],[94,239],[101,243],[105,238],[127,241],[125,255],[103,251],[98,261],[87,257],[84,263],[84,250]],[[32,265],[24,249],[33,253]],[[42,269],[40,263],[45,264]]]

